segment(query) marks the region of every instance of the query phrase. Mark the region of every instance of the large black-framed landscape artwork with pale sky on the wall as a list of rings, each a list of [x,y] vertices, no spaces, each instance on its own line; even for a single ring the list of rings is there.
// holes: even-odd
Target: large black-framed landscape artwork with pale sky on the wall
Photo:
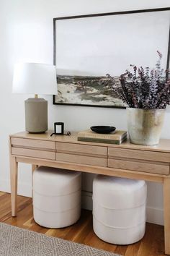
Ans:
[[[125,108],[107,83],[130,68],[169,67],[170,8],[53,19],[58,95],[54,104]]]

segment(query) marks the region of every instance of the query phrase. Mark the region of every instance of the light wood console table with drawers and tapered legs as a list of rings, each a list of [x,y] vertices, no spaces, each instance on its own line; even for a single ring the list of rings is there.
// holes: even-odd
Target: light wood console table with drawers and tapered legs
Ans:
[[[157,146],[123,142],[111,145],[77,141],[71,136],[19,132],[9,136],[12,216],[17,216],[18,163],[51,166],[93,174],[144,179],[164,184],[165,253],[170,255],[170,140]]]

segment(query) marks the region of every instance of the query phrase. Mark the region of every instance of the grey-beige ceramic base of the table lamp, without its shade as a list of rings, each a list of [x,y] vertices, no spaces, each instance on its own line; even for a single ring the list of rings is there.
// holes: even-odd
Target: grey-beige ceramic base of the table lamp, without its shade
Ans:
[[[28,98],[24,101],[25,129],[30,133],[43,133],[48,129],[48,101]]]

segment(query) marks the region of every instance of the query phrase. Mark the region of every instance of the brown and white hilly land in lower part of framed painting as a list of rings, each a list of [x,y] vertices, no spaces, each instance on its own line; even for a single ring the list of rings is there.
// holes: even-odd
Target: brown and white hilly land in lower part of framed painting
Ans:
[[[107,76],[71,76],[58,75],[58,95],[55,95],[56,104],[125,107],[108,83]],[[117,85],[119,77],[115,77]]]

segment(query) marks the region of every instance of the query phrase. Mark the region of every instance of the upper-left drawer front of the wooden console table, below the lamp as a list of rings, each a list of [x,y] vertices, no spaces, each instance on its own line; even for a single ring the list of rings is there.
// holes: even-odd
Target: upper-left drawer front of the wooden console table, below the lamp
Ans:
[[[55,142],[48,140],[32,140],[32,139],[22,139],[12,137],[11,139],[12,146],[18,146],[20,148],[45,148],[45,149],[53,149],[55,150]]]

